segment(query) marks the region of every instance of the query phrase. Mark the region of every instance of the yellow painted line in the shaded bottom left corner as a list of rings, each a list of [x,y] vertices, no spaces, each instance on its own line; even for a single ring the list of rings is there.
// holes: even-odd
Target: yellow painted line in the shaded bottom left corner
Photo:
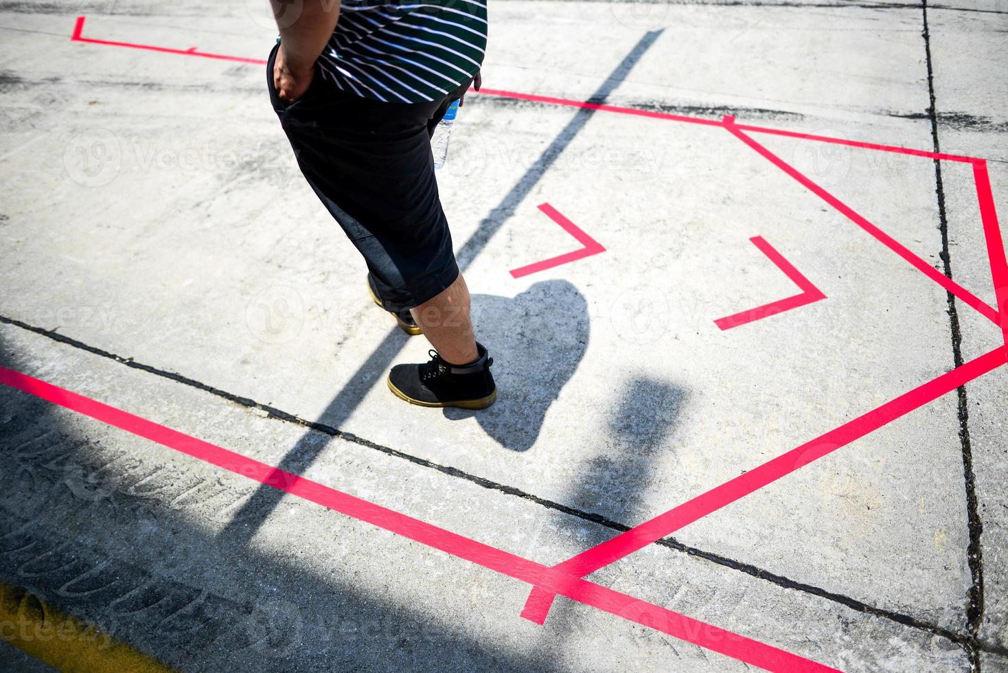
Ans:
[[[64,673],[170,673],[153,657],[0,581],[0,639]]]

